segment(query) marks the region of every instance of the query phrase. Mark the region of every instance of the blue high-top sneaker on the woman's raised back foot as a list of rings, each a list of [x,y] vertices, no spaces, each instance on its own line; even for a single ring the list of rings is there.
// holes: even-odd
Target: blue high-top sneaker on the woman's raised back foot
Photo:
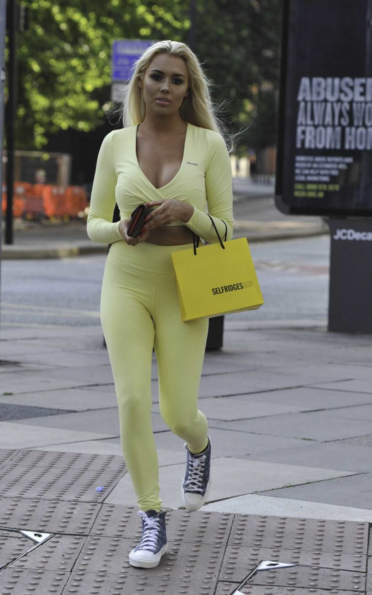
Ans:
[[[193,455],[186,448],[186,473],[181,486],[181,498],[188,511],[197,511],[207,500],[211,489],[211,439],[208,436],[208,446],[199,455]]]

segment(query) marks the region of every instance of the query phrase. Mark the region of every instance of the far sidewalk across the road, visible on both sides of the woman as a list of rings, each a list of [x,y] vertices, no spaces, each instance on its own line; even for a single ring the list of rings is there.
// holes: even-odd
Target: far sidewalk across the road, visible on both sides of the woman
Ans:
[[[249,242],[314,236],[328,233],[320,217],[288,216],[274,205],[274,187],[245,179],[234,180],[234,237],[248,237]],[[18,220],[14,226],[14,244],[2,246],[3,259],[65,258],[83,254],[107,253],[106,245],[91,242],[85,221],[44,224]]]

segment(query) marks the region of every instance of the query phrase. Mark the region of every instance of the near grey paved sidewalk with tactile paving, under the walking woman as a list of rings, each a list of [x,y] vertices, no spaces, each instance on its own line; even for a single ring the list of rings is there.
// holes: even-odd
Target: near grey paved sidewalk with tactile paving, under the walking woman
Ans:
[[[140,519],[101,330],[4,327],[0,567],[34,544],[4,527],[51,538],[0,572],[0,595],[230,595],[260,560],[298,566],[258,572],[240,593],[372,593],[370,337],[225,325],[201,383],[213,484],[198,512],[181,506],[185,449],[160,417],[154,362],[169,512],[168,552],[149,570],[127,562]]]

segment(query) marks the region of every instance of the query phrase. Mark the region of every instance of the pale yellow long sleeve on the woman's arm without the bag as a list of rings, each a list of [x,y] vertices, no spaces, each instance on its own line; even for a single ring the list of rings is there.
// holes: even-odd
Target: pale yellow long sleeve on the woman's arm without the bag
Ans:
[[[105,136],[99,149],[87,217],[87,234],[93,242],[99,244],[111,244],[123,239],[118,229],[119,223],[112,223],[116,202],[112,134],[113,131]]]

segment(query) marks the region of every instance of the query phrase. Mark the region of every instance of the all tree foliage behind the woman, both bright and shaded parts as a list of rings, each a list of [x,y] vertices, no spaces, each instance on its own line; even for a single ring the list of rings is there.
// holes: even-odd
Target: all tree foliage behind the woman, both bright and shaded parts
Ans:
[[[30,29],[18,35],[20,148],[42,148],[58,130],[90,131],[102,123],[110,99],[112,40],[189,40],[189,0],[23,3],[30,10]],[[224,120],[233,133],[240,130],[236,145],[272,144],[282,2],[196,4],[193,49],[214,83],[215,101],[227,99]]]

